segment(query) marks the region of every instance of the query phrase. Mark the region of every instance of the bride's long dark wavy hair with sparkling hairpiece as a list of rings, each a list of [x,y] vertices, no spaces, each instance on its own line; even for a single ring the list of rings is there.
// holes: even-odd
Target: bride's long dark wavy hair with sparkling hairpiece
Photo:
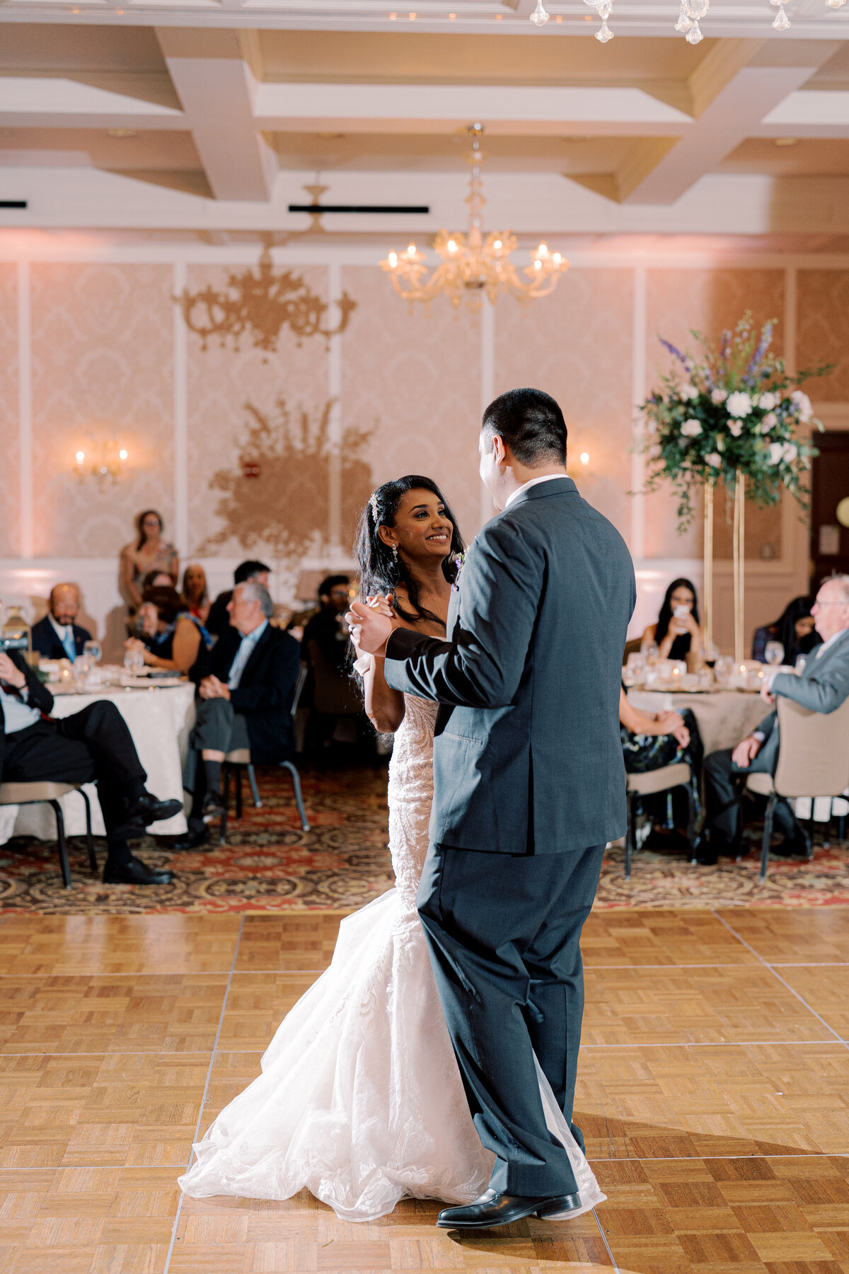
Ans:
[[[378,535],[379,526],[395,526],[395,516],[398,511],[398,505],[409,490],[415,490],[417,488],[433,492],[444,508],[446,517],[453,527],[451,549],[442,563],[442,572],[449,583],[454,582],[457,577],[457,563],[454,559],[458,554],[465,552],[463,538],[457,527],[457,519],[451,511],[448,501],[439,490],[435,482],[430,478],[423,478],[421,474],[407,474],[405,478],[396,478],[393,482],[384,482],[382,487],[378,487],[360,515],[359,526],[356,529],[356,558],[360,564],[360,596],[365,599],[377,592],[392,592],[395,595],[395,609],[402,619],[406,619],[410,623],[415,623],[419,619],[430,619],[439,623],[439,617],[432,614],[421,605],[419,600],[421,589],[417,580],[410,571],[410,567],[402,561],[400,554],[396,562],[392,557],[392,549],[388,544],[384,544]],[[405,585],[407,590],[410,605],[414,608],[412,612],[405,610],[405,608],[398,604],[397,586],[400,583]]]

